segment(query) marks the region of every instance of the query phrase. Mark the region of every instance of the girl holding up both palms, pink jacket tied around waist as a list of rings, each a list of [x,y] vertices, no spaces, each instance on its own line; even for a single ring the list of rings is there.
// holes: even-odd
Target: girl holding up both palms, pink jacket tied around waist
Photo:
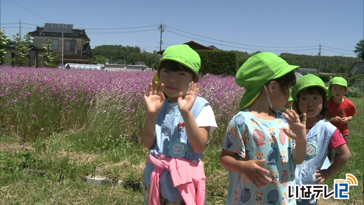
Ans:
[[[148,95],[143,90],[147,112],[142,142],[149,149],[143,173],[145,203],[202,205],[202,151],[217,125],[209,102],[198,97],[195,82],[201,60],[188,45],[174,45],[160,62]]]

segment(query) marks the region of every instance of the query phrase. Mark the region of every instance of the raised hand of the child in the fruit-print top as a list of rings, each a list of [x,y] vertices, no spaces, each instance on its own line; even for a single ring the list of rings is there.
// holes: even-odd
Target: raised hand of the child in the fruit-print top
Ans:
[[[287,113],[282,113],[286,118],[287,123],[289,124],[289,129],[286,127],[283,128],[283,131],[287,136],[296,141],[296,143],[305,142],[306,141],[306,113],[302,115],[302,122],[300,122],[300,116],[296,113],[296,111],[292,110],[291,112],[286,111]]]

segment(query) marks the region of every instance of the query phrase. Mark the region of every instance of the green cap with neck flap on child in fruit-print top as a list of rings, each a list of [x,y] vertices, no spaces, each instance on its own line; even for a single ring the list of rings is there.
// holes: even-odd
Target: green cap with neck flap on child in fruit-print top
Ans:
[[[245,88],[240,109],[249,107],[256,100],[264,84],[298,67],[289,65],[274,53],[261,52],[248,58],[235,75],[236,84]]]

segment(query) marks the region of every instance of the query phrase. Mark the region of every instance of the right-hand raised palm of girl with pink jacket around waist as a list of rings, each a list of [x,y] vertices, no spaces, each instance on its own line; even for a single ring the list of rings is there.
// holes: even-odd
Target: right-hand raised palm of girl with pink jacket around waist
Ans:
[[[197,83],[193,81],[188,85],[185,97],[180,92],[177,98],[178,108],[181,112],[189,112],[198,96]]]

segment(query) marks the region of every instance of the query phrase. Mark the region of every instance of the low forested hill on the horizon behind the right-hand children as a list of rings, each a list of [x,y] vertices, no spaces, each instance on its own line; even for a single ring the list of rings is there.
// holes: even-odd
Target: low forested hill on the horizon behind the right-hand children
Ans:
[[[318,55],[299,55],[281,53],[280,57],[290,65],[298,65],[305,68],[316,68],[319,66]],[[344,73],[348,71],[356,61],[353,57],[342,56],[321,56],[321,72],[323,73]]]

